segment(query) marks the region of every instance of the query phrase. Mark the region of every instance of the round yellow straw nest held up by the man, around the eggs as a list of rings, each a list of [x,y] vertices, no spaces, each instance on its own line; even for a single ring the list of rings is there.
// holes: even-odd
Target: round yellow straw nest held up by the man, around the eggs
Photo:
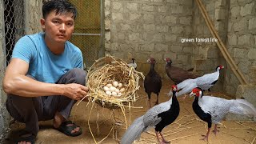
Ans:
[[[90,67],[86,76],[86,86],[90,91],[89,101],[110,110],[130,106],[130,103],[138,98],[136,91],[139,89],[140,77],[144,78],[144,75],[128,66],[122,59],[110,55],[99,58]],[[119,97],[108,96],[103,90],[103,86],[114,81],[122,82],[125,88]]]

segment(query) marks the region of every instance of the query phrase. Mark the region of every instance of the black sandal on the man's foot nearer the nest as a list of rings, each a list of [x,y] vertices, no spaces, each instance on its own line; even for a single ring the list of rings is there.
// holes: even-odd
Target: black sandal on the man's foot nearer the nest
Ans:
[[[72,126],[67,126],[69,124],[72,124]],[[71,133],[71,131],[77,127],[79,127],[79,130],[74,133]],[[73,123],[71,121],[62,122],[61,126],[58,126],[58,128],[54,128],[54,129],[62,132],[63,134],[66,134],[67,136],[71,136],[71,137],[76,137],[76,136],[82,134],[81,127],[77,126],[75,123]]]

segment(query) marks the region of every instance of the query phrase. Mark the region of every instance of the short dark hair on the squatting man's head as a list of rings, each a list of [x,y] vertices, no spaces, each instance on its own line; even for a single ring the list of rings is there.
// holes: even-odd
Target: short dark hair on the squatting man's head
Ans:
[[[50,0],[43,2],[42,17],[46,19],[50,12],[55,11],[56,14],[72,13],[75,19],[78,11],[77,8],[67,0]]]

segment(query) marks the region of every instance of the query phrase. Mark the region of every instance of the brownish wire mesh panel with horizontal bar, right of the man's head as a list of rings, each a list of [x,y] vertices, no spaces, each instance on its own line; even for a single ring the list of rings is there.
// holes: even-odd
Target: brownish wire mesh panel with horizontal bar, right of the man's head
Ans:
[[[74,34],[70,42],[82,50],[85,68],[99,58],[101,49],[101,0],[70,0],[78,8]]]

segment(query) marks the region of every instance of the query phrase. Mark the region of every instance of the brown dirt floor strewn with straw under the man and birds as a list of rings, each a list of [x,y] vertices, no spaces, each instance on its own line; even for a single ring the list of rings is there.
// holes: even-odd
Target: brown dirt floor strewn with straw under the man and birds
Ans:
[[[160,102],[166,102],[169,99],[166,93],[170,91],[170,86],[170,81],[163,81],[161,94],[159,96]],[[130,122],[133,122],[134,118],[138,118],[148,110],[149,105],[147,96],[142,85],[141,89],[138,90],[138,95],[140,96],[140,99],[134,103],[134,106],[143,108],[132,109],[131,114],[129,114],[129,110],[126,110],[128,123],[129,119],[131,119]],[[223,94],[218,94],[218,96],[226,97]],[[151,99],[152,105],[154,105],[154,102],[156,102],[156,95],[152,94]],[[178,101],[181,108],[178,118],[174,123],[170,126],[166,126],[166,128],[162,130],[166,140],[171,143],[256,144],[256,122],[245,121],[223,121],[222,125],[219,126],[220,132],[217,136],[210,133],[209,142],[200,140],[200,138],[202,138],[201,134],[206,134],[207,125],[206,122],[200,121],[194,114],[194,111],[192,110],[193,98],[186,98],[185,100],[178,98]],[[87,106],[87,104],[88,102],[81,102],[78,106],[75,105],[70,116],[70,120],[82,127],[82,135],[76,138],[71,138],[58,132],[58,130],[52,129],[52,121],[40,122],[40,131],[36,143],[118,143],[122,138],[122,134],[126,131],[126,125],[122,122],[125,118],[123,117],[121,110],[109,110],[96,104],[93,106],[93,109],[90,109],[91,106]],[[115,118],[117,118],[116,122],[113,121],[113,114]],[[88,119],[90,119],[90,121],[88,121]],[[2,143],[14,143],[14,139],[18,137],[18,131],[22,130],[24,126],[25,125],[22,123],[14,122],[14,124],[10,126],[10,132],[7,138]],[[94,137],[90,133],[90,130]],[[134,143],[157,143],[154,129],[144,132],[140,140]]]

